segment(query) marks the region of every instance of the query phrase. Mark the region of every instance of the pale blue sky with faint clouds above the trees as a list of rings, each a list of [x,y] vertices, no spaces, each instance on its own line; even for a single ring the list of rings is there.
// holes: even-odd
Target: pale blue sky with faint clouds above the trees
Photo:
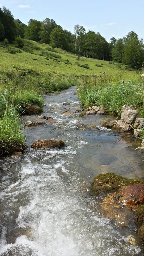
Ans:
[[[30,18],[52,18],[63,29],[73,32],[75,24],[86,31],[100,32],[109,41],[134,30],[144,38],[144,0],[0,0],[15,19],[27,24]]]

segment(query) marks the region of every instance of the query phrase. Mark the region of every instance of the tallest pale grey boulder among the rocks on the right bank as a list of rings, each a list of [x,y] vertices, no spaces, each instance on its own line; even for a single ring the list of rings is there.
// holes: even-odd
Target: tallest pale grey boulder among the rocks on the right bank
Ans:
[[[134,109],[133,105],[124,105],[122,108],[121,120],[128,124],[133,124],[138,116],[138,113],[138,110]]]

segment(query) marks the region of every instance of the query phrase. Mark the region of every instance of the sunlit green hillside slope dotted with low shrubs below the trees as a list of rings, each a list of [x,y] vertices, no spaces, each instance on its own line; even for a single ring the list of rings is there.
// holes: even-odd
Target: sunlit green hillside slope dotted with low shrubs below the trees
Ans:
[[[10,50],[19,51],[16,43],[9,44]],[[24,49],[24,50],[23,50]],[[110,63],[109,61],[89,59],[86,57],[78,57],[75,54],[66,52],[62,49],[55,48],[47,44],[40,44],[31,40],[24,39],[24,48],[21,53],[10,54],[7,48],[0,45],[0,66],[15,69],[33,69],[39,72],[58,72],[60,74],[74,75],[98,75],[103,72],[116,73],[123,71],[129,75],[129,71],[125,70],[125,65]],[[89,69],[81,67],[87,64]]]

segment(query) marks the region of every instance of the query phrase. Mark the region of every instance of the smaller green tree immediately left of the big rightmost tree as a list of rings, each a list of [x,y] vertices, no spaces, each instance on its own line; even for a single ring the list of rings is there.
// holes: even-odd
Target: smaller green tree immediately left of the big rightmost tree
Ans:
[[[123,52],[124,52],[123,39],[119,38],[115,44],[115,47],[112,49],[113,60],[117,61],[118,63],[121,63],[123,58]]]

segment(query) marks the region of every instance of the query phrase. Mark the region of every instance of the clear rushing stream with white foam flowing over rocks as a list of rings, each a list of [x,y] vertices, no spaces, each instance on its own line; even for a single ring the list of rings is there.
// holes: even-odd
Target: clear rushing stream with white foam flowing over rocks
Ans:
[[[101,124],[114,116],[79,117],[76,87],[44,96],[44,115],[56,123],[24,129],[28,149],[0,160],[0,256],[142,256],[131,222],[118,227],[90,196],[95,175],[108,171],[144,179],[144,155],[139,142]],[[70,110],[72,113],[62,114]],[[21,122],[38,121],[23,116]],[[77,125],[99,129],[78,129]],[[62,149],[36,149],[36,139],[65,141]]]

